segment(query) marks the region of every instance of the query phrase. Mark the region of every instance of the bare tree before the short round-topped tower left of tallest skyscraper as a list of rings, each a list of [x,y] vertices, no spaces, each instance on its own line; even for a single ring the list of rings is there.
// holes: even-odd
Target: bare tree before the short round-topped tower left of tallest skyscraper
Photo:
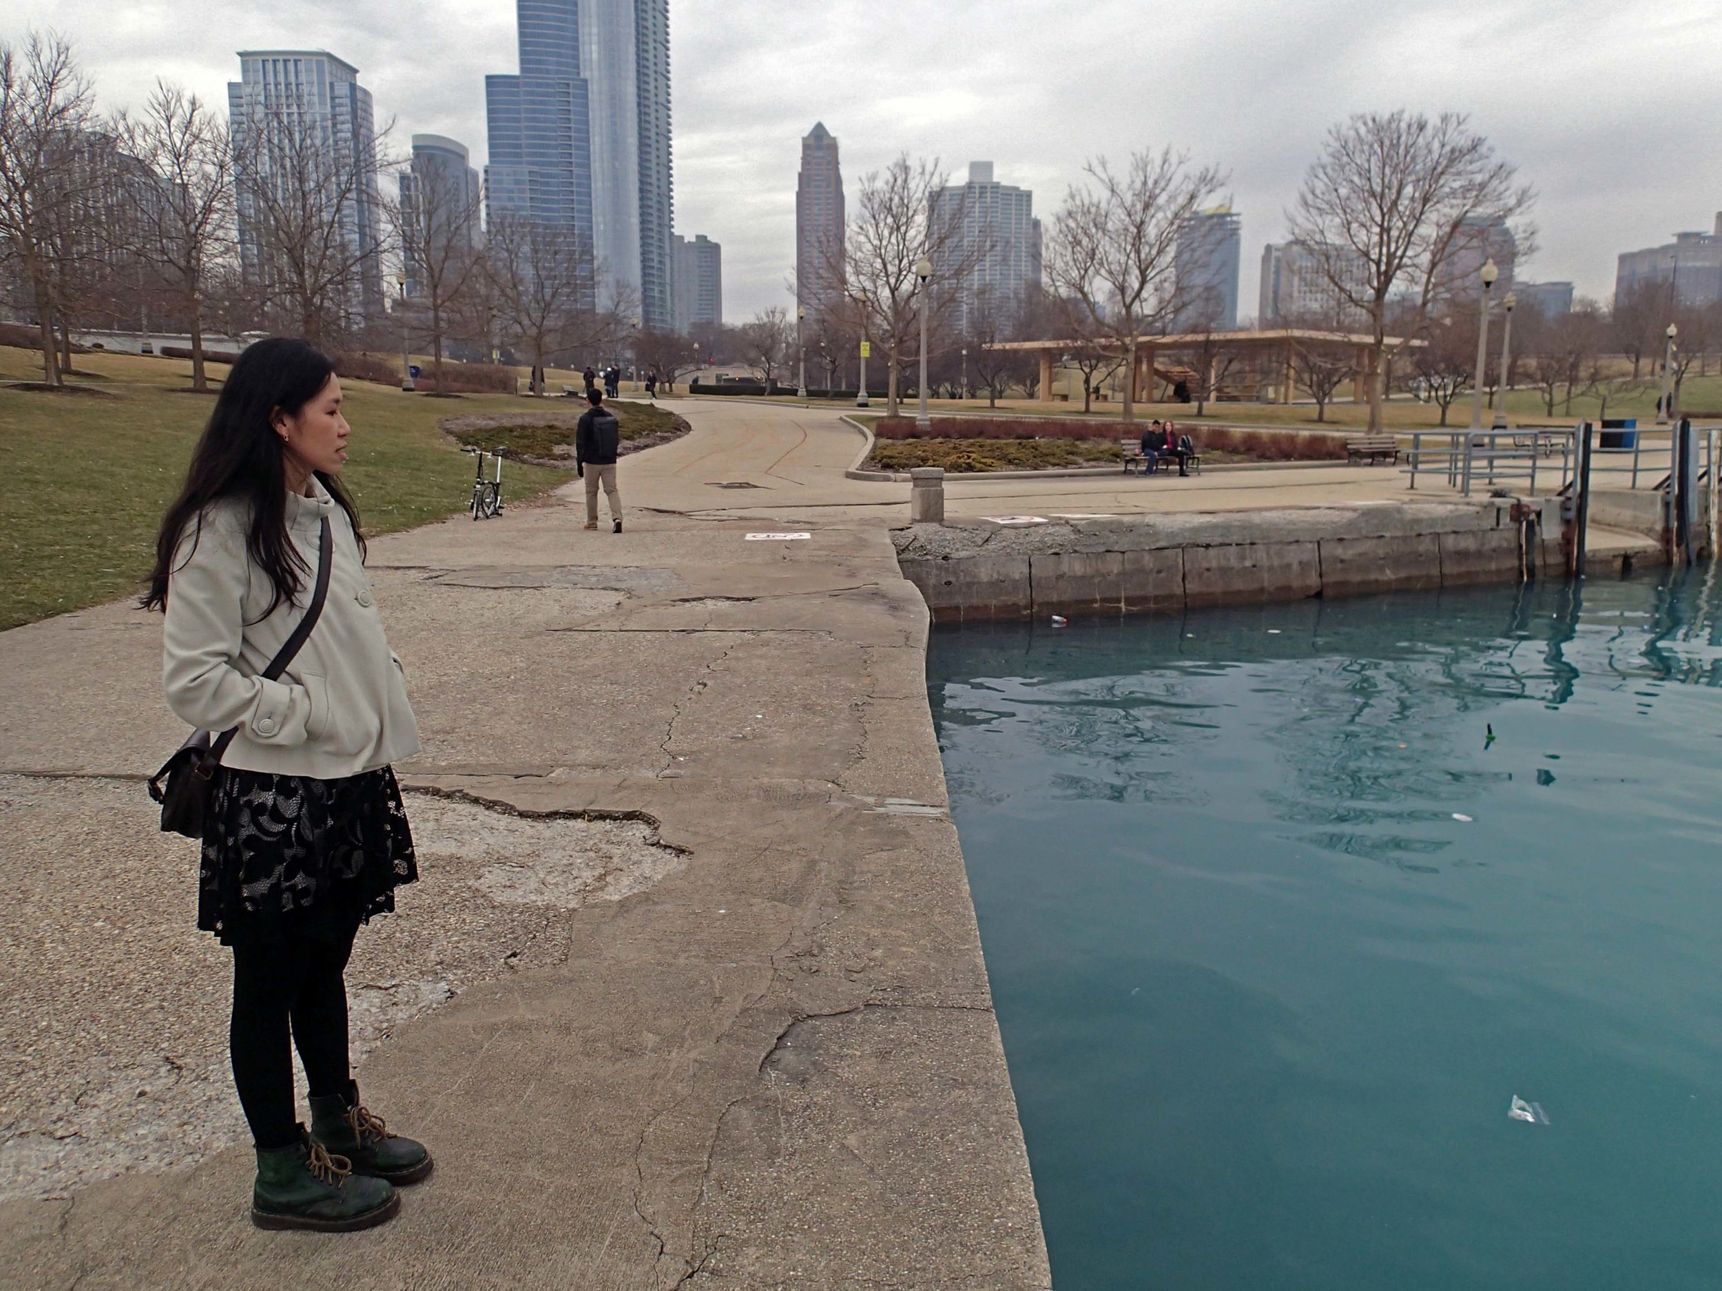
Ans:
[[[477,248],[482,195],[467,182],[465,165],[434,153],[413,158],[401,172],[400,201],[389,205],[389,225],[406,275],[406,305],[417,308],[430,334],[430,372],[443,389],[443,343],[451,313],[482,274]]]

